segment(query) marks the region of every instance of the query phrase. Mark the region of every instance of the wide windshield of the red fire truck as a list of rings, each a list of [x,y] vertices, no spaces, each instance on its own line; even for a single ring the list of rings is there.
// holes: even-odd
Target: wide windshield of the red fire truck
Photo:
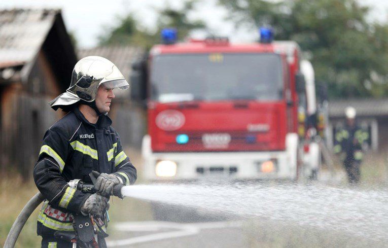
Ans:
[[[168,54],[153,58],[152,99],[278,100],[283,69],[278,54]]]

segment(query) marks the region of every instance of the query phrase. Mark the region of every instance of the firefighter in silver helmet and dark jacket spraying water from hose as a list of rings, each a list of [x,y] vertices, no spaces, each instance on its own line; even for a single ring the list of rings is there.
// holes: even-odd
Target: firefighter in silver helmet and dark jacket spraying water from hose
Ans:
[[[75,65],[66,92],[49,103],[55,111],[60,108],[68,113],[47,130],[33,169],[34,181],[46,198],[37,228],[42,247],[72,247],[69,240],[60,237],[75,233],[73,218],[80,214],[93,217],[95,241],[106,247],[105,210],[113,187],[132,185],[136,180],[136,169],[107,116],[115,88],[129,88],[115,64],[89,56]],[[75,179],[91,183],[89,173],[93,170],[100,172],[97,193],[83,193],[67,184]]]

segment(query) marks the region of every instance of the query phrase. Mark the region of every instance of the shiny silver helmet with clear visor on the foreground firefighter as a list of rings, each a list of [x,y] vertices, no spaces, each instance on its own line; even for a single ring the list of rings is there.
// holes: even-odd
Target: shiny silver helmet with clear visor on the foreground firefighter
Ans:
[[[104,84],[109,89],[128,89],[129,84],[117,66],[106,58],[88,56],[74,66],[72,82],[65,93],[49,102],[51,108],[67,110],[70,105],[82,100],[93,102],[98,86]]]

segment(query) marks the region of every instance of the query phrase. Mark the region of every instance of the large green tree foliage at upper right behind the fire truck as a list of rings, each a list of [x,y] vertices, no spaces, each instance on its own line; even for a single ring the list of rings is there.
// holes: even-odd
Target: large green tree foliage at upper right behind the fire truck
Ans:
[[[329,96],[388,96],[388,24],[366,20],[356,0],[219,0],[237,25],[269,25],[277,40],[294,40]]]

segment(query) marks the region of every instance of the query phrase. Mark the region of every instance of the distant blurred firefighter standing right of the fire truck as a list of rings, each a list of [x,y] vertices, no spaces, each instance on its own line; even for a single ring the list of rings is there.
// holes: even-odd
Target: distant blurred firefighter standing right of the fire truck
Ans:
[[[356,110],[353,107],[345,109],[346,125],[335,133],[334,152],[343,154],[343,166],[350,184],[360,182],[360,165],[363,159],[363,144],[369,138],[369,133],[356,123]]]

